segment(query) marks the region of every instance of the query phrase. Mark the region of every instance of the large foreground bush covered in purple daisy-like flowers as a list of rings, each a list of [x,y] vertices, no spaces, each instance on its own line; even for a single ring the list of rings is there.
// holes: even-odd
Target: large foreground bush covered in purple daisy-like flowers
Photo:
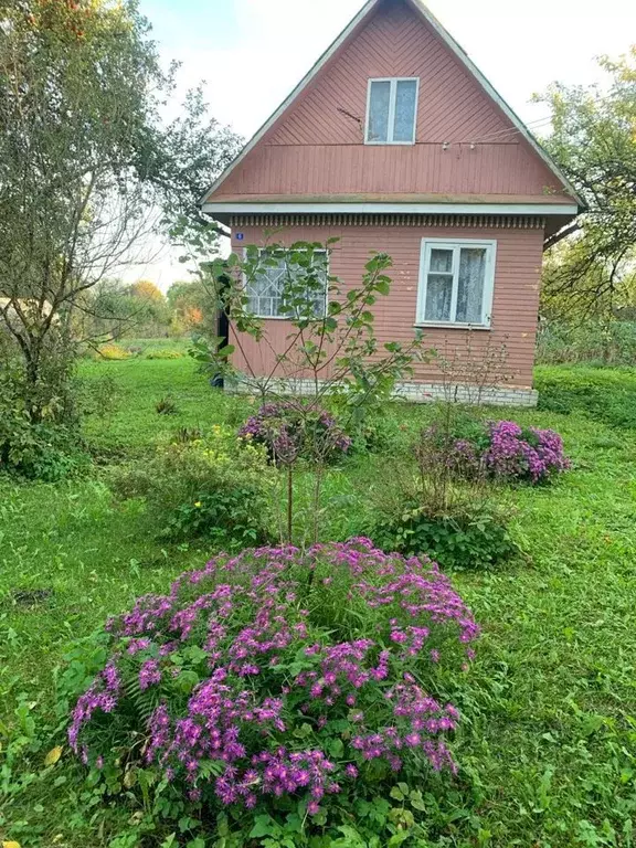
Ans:
[[[144,775],[191,814],[225,809],[245,828],[293,816],[336,833],[395,781],[422,787],[456,768],[459,716],[439,692],[479,628],[426,559],[367,539],[220,554],[106,630],[71,748],[94,770],[116,764],[125,786]]]

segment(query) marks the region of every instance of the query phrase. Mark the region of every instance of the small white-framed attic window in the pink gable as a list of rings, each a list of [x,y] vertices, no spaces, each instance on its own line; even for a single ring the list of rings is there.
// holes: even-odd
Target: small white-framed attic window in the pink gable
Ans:
[[[420,80],[369,80],[368,145],[414,145]]]

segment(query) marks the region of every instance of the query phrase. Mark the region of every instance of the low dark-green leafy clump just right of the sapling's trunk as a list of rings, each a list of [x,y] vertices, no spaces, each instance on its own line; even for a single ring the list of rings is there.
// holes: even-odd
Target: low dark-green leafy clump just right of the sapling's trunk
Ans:
[[[463,504],[453,515],[435,515],[410,500],[392,513],[380,513],[369,534],[384,550],[427,554],[445,569],[490,568],[519,551],[502,510],[485,504]]]

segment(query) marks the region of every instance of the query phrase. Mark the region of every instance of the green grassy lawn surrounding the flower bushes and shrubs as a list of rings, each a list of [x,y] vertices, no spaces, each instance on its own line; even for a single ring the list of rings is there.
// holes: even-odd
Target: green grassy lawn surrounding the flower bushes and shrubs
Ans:
[[[55,679],[73,639],[211,553],[203,543],[159,543],[139,501],[113,501],[108,464],[144,456],[178,427],[237,424],[250,409],[212,391],[187,358],[83,370],[112,374],[120,393],[115,414],[86,423],[95,474],[60,485],[0,478],[0,842],[22,848],[109,846],[129,826],[132,802],[96,804],[67,752],[44,767],[47,750],[64,741],[55,735]],[[583,371],[541,369],[540,380],[574,372],[584,384]],[[601,383],[618,404],[633,378],[593,371],[595,391]],[[167,395],[177,413],[158,415]],[[431,412],[395,414],[415,432]],[[636,844],[636,431],[582,410],[513,416],[558,430],[574,469],[550,488],[507,492],[526,556],[454,576],[484,636],[458,703],[459,775],[426,797],[430,845],[627,848]],[[391,462],[371,455],[330,474],[326,538],[360,531]],[[8,744],[29,734],[42,748],[26,762]],[[144,845],[168,834],[159,828]]]

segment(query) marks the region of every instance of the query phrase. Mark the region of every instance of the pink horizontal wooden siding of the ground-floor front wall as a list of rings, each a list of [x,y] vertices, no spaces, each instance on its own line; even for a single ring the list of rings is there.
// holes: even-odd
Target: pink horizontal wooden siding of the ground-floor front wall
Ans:
[[[233,250],[240,253],[247,244],[264,244],[264,231],[258,226],[241,227],[244,239],[233,237]],[[415,308],[420,277],[420,252],[422,239],[494,239],[497,241],[497,265],[495,272],[495,299],[490,330],[474,330],[470,333],[474,354],[479,357],[490,339],[491,347],[506,344],[508,360],[506,370],[515,388],[530,388],[539,307],[539,280],[542,261],[543,232],[531,230],[499,230],[489,227],[383,227],[383,226],[293,226],[276,233],[275,240],[285,244],[295,241],[325,243],[338,237],[331,256],[331,273],[338,276],[344,290],[359,286],[364,264],[370,252],[381,251],[393,258],[390,272],[393,285],[391,295],[380,298],[375,321],[379,339],[407,342],[414,337]],[[240,349],[234,354],[235,364],[246,369],[247,360],[261,375],[275,373],[275,353],[284,350],[292,328],[288,321],[266,320],[268,343],[255,342],[241,337]],[[446,356],[465,354],[468,332],[463,329],[426,328],[426,344]],[[234,338],[234,341],[236,339]],[[300,377],[301,374],[296,374]],[[439,380],[435,364],[418,364],[414,377],[418,382]]]

